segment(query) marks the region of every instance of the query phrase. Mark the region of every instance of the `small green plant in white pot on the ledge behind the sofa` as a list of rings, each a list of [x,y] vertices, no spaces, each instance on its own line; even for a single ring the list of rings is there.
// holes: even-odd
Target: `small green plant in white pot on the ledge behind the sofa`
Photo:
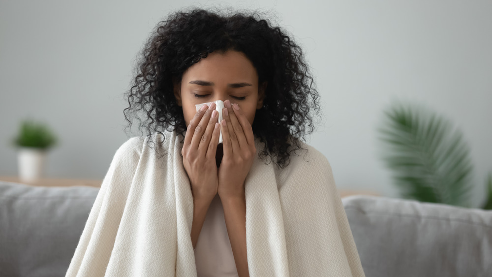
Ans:
[[[18,147],[18,169],[22,181],[42,177],[47,150],[55,145],[57,138],[45,124],[25,120],[13,143]]]

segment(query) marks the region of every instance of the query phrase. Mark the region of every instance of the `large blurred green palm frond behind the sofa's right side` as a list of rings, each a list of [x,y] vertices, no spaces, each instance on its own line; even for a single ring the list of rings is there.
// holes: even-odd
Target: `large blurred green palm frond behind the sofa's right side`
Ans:
[[[468,206],[471,160],[459,130],[443,117],[416,106],[386,110],[379,129],[383,160],[404,198]]]

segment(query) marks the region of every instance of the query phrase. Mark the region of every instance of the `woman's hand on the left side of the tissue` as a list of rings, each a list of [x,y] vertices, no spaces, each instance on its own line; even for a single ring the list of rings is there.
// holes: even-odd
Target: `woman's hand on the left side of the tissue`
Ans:
[[[190,121],[184,136],[184,170],[191,183],[193,199],[212,201],[217,194],[218,174],[215,162],[220,124],[215,103],[203,105]]]

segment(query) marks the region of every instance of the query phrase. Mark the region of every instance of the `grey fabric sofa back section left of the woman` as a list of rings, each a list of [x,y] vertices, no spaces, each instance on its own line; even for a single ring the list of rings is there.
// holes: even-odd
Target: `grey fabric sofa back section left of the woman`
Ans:
[[[65,276],[98,191],[0,182],[0,276]]]

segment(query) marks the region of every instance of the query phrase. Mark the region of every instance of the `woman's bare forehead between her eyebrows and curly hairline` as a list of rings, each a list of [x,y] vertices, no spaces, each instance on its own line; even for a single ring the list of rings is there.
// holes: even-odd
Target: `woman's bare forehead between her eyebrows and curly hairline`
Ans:
[[[248,81],[257,84],[258,74],[251,61],[242,52],[213,52],[184,72],[183,81],[188,83],[191,80],[218,83]]]

